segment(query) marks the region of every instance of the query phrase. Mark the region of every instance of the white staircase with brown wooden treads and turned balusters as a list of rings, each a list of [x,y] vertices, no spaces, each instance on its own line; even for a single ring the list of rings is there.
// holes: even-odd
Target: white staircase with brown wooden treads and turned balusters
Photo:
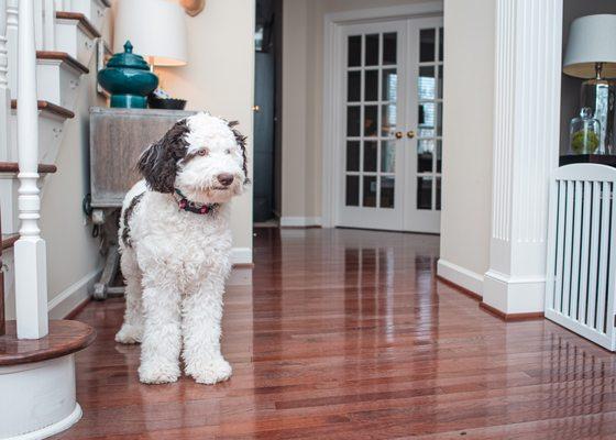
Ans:
[[[78,95],[92,92],[79,86],[94,84],[88,66],[109,7],[108,0],[0,0],[1,252],[16,316],[0,332],[0,439],[46,438],[81,415],[74,353],[94,330],[48,321],[38,219],[66,121],[75,118]]]

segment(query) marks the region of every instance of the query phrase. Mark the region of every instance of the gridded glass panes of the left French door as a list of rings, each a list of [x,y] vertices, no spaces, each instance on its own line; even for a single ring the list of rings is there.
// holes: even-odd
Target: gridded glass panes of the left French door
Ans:
[[[344,201],[371,210],[396,208],[398,33],[346,36]]]

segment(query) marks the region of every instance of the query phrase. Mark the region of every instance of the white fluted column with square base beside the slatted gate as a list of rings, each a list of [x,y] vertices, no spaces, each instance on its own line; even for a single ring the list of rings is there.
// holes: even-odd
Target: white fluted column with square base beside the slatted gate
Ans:
[[[493,218],[483,301],[507,315],[543,311],[561,41],[562,0],[497,0]]]

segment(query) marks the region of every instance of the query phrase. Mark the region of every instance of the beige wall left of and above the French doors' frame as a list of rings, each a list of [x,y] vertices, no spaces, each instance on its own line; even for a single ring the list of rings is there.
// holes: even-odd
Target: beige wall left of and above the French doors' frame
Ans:
[[[323,21],[422,0],[283,0],[283,217],[321,216]]]

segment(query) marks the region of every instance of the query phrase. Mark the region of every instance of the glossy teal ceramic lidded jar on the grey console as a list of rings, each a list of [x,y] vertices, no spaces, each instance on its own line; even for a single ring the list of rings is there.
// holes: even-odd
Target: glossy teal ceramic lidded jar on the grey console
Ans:
[[[111,94],[111,107],[129,109],[145,109],[147,95],[158,86],[145,59],[133,54],[130,41],[124,44],[124,53],[113,55],[98,73],[98,81]]]

